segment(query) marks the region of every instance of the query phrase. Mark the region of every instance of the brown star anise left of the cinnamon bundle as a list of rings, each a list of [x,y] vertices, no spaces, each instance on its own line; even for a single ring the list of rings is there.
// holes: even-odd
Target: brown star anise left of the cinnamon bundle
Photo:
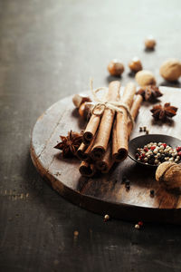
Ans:
[[[69,131],[67,136],[60,136],[61,142],[54,146],[62,151],[62,157],[68,158],[75,155],[82,142],[82,133]]]

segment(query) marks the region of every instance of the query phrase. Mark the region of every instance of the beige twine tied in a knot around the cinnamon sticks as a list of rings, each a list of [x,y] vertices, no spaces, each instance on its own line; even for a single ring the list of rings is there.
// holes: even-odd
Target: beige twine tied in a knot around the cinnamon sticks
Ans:
[[[100,87],[96,90],[93,90],[93,81],[92,81],[92,79],[90,79],[90,91],[92,93],[94,101],[96,102],[91,110],[91,113],[94,115],[100,116],[103,114],[105,109],[110,109],[115,112],[123,113],[121,108],[119,108],[119,107],[122,107],[127,111],[127,114],[128,114],[129,119],[132,123],[132,126],[134,126],[134,120],[133,120],[133,117],[129,111],[128,105],[123,102],[108,102],[103,96],[100,99],[96,93],[100,92],[101,90],[108,91],[108,88]]]

